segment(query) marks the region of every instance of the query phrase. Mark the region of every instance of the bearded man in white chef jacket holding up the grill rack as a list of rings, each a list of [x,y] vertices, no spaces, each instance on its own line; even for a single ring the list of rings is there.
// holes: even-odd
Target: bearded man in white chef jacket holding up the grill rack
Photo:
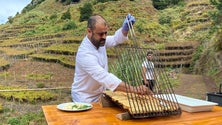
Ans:
[[[125,83],[108,72],[106,48],[123,43],[128,39],[129,23],[135,18],[128,14],[122,28],[114,35],[107,36],[106,20],[100,15],[91,16],[88,20],[87,35],[79,46],[76,55],[72,99],[74,102],[97,102],[106,89],[126,91]],[[131,86],[132,92],[144,94],[148,89],[142,85],[140,89]],[[137,91],[135,91],[137,90]]]

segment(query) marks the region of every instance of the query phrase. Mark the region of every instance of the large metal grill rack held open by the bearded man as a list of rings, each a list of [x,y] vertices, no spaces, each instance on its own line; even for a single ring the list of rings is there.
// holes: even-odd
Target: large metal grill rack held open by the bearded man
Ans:
[[[156,67],[153,70],[156,84],[153,88],[153,95],[145,93],[143,95],[132,93],[131,86],[134,86],[134,92],[141,89],[142,82],[142,63],[146,59],[147,51],[155,50],[148,48],[140,48],[139,42],[136,40],[136,34],[132,22],[126,17],[129,28],[129,33],[133,41],[132,46],[116,47],[116,56],[118,57],[118,64],[120,71],[119,76],[125,81],[126,98],[129,104],[129,113],[133,118],[146,118],[156,116],[180,115],[181,109],[175,98],[172,86],[163,67]],[[160,61],[154,55],[153,63]],[[148,67],[153,65],[147,64]],[[115,65],[115,70],[117,66]],[[147,68],[148,70],[148,68]],[[149,88],[147,88],[149,89]],[[119,100],[118,100],[119,101]]]

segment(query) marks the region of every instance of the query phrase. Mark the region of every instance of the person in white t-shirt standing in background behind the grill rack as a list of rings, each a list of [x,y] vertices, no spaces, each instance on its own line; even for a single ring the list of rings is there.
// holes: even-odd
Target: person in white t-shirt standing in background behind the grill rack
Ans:
[[[147,52],[146,60],[142,63],[142,75],[144,84],[153,91],[155,85],[155,74],[154,74],[154,64],[152,62],[153,53],[151,51]]]

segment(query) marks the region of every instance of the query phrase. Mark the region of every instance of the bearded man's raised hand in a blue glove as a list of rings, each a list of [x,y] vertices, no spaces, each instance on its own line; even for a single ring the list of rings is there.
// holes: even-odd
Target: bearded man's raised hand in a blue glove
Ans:
[[[129,31],[130,28],[132,28],[131,25],[133,25],[136,22],[136,19],[131,14],[128,14],[126,19],[123,22],[122,29],[126,32]]]

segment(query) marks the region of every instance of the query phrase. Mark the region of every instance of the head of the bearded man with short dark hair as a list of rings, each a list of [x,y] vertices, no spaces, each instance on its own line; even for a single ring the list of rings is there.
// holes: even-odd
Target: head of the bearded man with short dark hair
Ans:
[[[108,26],[106,20],[100,15],[91,16],[87,24],[87,37],[98,49],[105,45]]]

